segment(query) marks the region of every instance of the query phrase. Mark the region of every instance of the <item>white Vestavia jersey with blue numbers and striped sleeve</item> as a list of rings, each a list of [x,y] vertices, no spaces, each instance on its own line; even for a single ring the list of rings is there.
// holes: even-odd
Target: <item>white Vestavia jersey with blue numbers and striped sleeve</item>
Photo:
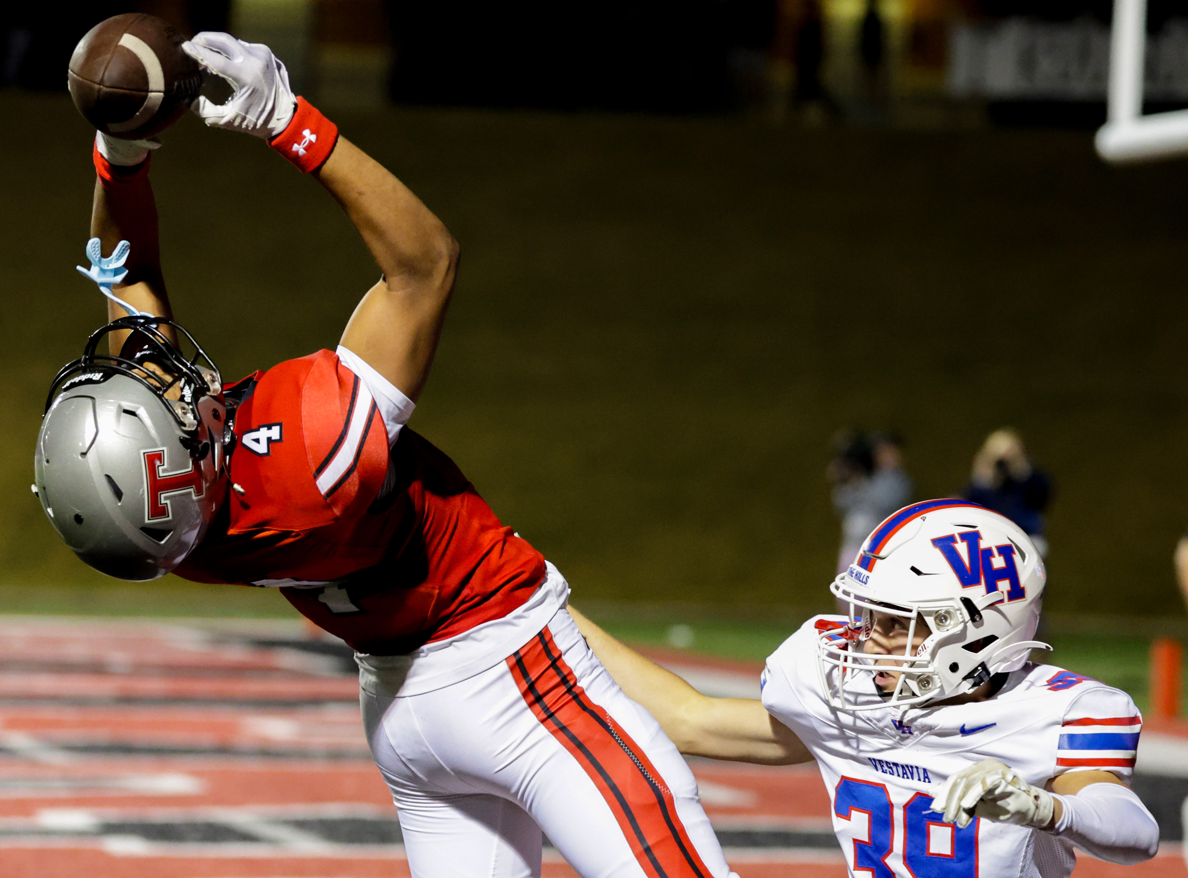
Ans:
[[[817,761],[851,876],[1067,878],[1064,839],[974,820],[959,829],[928,810],[931,790],[981,759],[1043,787],[1066,771],[1106,770],[1129,782],[1142,717],[1130,695],[1050,664],[1025,664],[991,699],[947,707],[833,711],[817,670],[819,616],[769,658],[763,706]],[[868,674],[853,683],[878,695]]]

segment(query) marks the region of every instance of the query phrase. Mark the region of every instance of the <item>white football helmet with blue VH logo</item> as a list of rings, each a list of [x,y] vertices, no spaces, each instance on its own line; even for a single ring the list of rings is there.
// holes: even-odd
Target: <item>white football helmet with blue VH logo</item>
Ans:
[[[829,590],[849,623],[817,623],[821,682],[841,711],[921,706],[961,695],[1016,670],[1034,648],[1043,561],[1028,535],[998,513],[961,500],[929,500],[891,515]],[[866,655],[876,612],[908,623],[902,655]],[[930,632],[915,651],[921,624]],[[898,673],[890,695],[872,670]]]

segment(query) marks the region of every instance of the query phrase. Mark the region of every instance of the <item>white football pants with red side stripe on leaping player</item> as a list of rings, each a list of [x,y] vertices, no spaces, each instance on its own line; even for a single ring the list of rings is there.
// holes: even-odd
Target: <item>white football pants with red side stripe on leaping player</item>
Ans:
[[[582,878],[732,874],[689,766],[565,610],[505,662],[362,712],[413,878],[536,878],[542,829]]]

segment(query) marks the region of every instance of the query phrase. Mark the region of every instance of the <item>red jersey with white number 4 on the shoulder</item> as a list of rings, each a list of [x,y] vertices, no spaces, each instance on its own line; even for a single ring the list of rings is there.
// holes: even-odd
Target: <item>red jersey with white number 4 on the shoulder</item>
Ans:
[[[390,447],[367,383],[322,350],[229,388],[229,494],[175,572],[280,586],[356,650],[400,655],[506,616],[545,567],[446,454],[399,424]]]

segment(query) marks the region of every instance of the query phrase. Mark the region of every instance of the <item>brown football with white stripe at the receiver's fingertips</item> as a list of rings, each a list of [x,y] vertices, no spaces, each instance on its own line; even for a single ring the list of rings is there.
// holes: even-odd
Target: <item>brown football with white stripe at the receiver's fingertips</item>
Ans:
[[[156,15],[128,12],[91,27],[70,56],[70,97],[101,132],[125,140],[159,134],[202,88],[185,34]]]

